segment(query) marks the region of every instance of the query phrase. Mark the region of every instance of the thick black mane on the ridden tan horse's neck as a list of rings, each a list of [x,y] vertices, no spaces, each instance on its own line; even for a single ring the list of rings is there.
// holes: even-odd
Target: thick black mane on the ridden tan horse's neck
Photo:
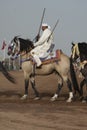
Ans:
[[[20,41],[20,52],[26,51],[29,52],[29,50],[34,48],[33,42],[30,39],[23,39],[18,38]]]

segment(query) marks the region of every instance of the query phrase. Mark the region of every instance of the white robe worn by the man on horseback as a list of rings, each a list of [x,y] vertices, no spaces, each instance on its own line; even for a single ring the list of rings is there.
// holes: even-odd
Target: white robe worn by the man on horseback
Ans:
[[[51,51],[51,46],[53,45],[53,36],[51,35],[50,29],[45,29],[42,33],[40,39],[34,43],[35,48],[31,50],[31,55],[37,55],[39,58],[45,58],[49,55]],[[49,40],[48,37],[50,36]]]

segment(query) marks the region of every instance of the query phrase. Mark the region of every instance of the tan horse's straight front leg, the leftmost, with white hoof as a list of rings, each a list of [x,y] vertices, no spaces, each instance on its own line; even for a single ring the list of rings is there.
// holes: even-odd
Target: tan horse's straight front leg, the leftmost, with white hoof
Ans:
[[[24,82],[25,82],[25,93],[21,97],[21,99],[26,99],[28,96],[29,74],[27,72],[24,72]]]

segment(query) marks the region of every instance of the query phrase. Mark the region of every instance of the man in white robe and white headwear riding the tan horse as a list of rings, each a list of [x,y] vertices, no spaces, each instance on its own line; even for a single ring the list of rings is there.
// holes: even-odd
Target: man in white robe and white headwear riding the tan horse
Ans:
[[[46,23],[43,23],[42,31],[42,36],[36,43],[34,43],[35,48],[30,52],[37,63],[37,67],[41,66],[42,64],[40,58],[47,57],[54,48],[53,35],[50,26]]]

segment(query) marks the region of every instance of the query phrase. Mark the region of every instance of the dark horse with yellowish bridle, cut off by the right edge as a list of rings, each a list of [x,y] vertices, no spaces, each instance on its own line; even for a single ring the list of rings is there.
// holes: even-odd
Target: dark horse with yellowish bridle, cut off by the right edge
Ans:
[[[73,63],[77,65],[78,70],[83,76],[83,80],[80,83],[80,93],[82,96],[82,101],[87,101],[87,97],[83,96],[83,86],[87,87],[87,43],[79,42],[72,43],[72,60]]]

